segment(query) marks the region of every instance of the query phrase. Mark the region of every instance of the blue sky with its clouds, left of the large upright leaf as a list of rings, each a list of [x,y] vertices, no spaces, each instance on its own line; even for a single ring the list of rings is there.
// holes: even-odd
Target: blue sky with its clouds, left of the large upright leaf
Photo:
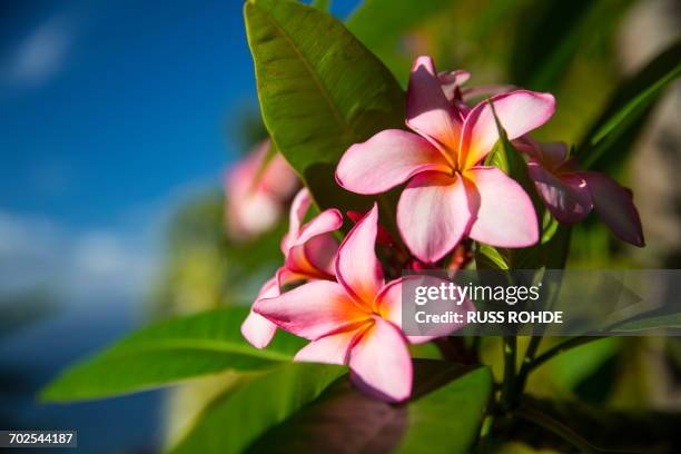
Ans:
[[[334,13],[356,3],[336,1]],[[8,280],[82,283],[92,273],[117,287],[144,282],[168,214],[219,185],[243,151],[235,126],[257,112],[241,6],[6,7],[0,290]]]

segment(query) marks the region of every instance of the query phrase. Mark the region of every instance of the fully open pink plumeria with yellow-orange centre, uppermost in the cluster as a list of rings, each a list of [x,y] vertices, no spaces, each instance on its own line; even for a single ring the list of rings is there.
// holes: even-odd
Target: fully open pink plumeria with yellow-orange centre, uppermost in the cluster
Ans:
[[[481,165],[499,139],[490,102],[510,139],[542,126],[555,110],[550,93],[514,90],[462,111],[445,97],[433,60],[420,57],[407,90],[406,122],[416,134],[381,131],[352,146],[338,164],[338,184],[354,193],[384,193],[407,181],[397,226],[422,261],[437,261],[463,236],[500,247],[539,239],[527,194],[496,167]]]

